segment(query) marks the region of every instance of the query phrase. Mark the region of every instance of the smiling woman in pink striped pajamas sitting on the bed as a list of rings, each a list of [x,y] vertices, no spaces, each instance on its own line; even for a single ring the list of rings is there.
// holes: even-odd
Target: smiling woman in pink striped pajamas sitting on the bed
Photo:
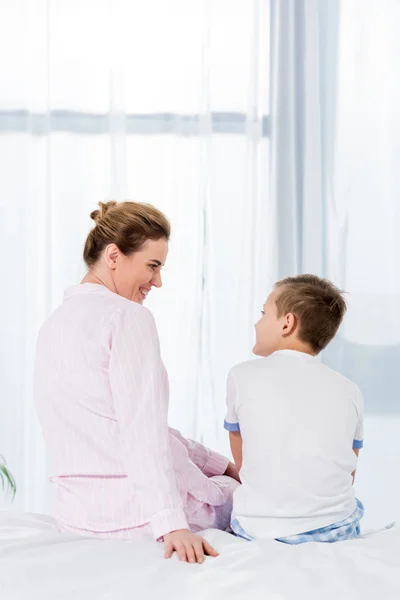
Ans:
[[[229,525],[238,474],[169,429],[168,379],[151,313],[170,226],[152,206],[100,203],[88,273],[42,327],[35,401],[63,532],[164,540],[165,556],[216,552],[194,532]],[[225,476],[223,476],[225,475]],[[222,477],[221,477],[222,476]]]

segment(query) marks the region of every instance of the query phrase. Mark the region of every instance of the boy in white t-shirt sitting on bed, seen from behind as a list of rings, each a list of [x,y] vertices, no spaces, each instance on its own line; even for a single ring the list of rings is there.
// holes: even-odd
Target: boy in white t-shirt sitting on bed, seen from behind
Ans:
[[[363,445],[358,387],[320,362],[346,312],[342,292],[314,275],[275,284],[256,324],[254,354],[227,384],[225,428],[242,486],[233,531],[298,544],[357,537],[353,481]]]

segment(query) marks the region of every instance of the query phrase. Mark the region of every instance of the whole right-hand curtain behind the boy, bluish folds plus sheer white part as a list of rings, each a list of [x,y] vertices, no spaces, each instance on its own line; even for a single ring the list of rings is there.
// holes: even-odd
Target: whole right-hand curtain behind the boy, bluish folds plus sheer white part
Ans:
[[[366,521],[400,503],[400,5],[271,3],[273,272],[348,292],[322,360],[365,396]]]

